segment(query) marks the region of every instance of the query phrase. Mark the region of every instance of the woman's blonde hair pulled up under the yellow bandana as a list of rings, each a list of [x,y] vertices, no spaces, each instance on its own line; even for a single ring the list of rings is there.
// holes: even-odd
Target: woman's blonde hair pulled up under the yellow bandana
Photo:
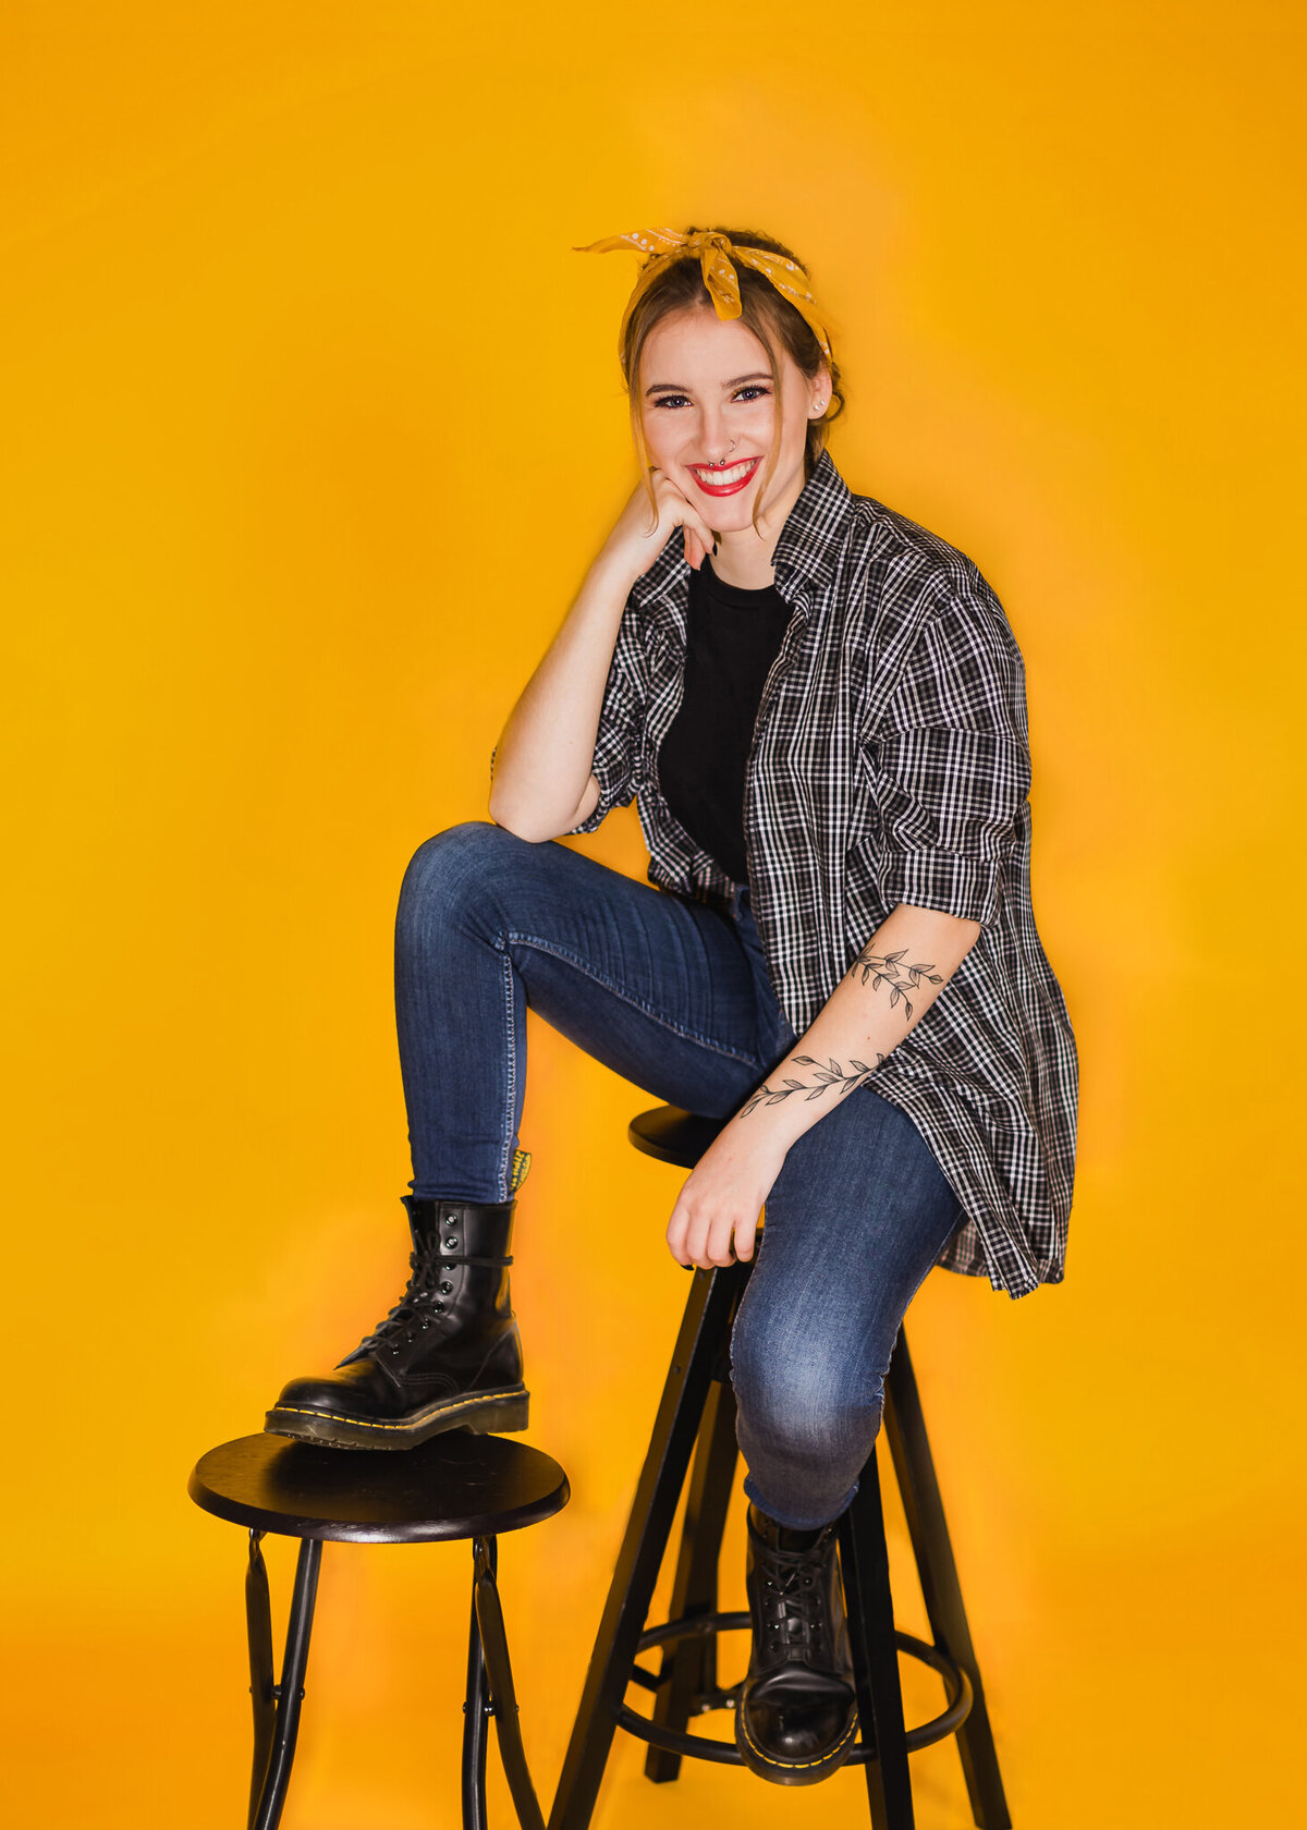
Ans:
[[[686,229],[686,234],[697,234],[696,229]],[[756,229],[721,229],[732,243],[740,247],[758,247],[769,254],[782,254],[785,260],[798,262],[798,254],[785,247],[782,242],[774,242],[767,234],[760,234]],[[646,267],[650,262],[644,264]],[[754,494],[754,512],[752,525],[758,529],[758,509],[767,492],[767,483],[771,481],[776,463],[780,461],[780,439],[782,439],[782,388],[780,388],[780,359],[778,350],[785,350],[794,366],[800,370],[805,381],[816,381],[822,368],[829,370],[831,375],[831,399],[820,419],[809,419],[805,425],[805,443],[804,443],[804,481],[813,474],[813,465],[826,448],[826,436],[833,419],[844,412],[844,392],[840,388],[840,370],[835,359],[827,362],[822,353],[822,346],[813,335],[807,320],[794,311],[787,298],[776,291],[776,287],[767,280],[756,267],[745,265],[745,262],[736,264],[736,276],[740,280],[740,322],[747,324],[754,333],[758,342],[767,351],[767,366],[771,368],[771,379],[776,399],[776,430],[772,436],[772,445],[767,454],[767,465],[763,468],[762,483]],[[622,339],[621,362],[622,362],[622,381],[626,382],[626,393],[632,412],[632,437],[635,441],[635,454],[641,465],[641,481],[650,501],[650,533],[657,523],[657,496],[654,494],[654,483],[650,481],[650,454],[644,443],[644,403],[641,399],[639,375],[641,359],[644,355],[644,344],[650,333],[663,318],[670,318],[675,311],[694,309],[703,306],[708,311],[716,311],[712,296],[703,284],[703,267],[697,258],[670,260],[666,262],[663,273],[650,285],[650,289],[637,300],[626,322],[626,335]],[[829,335],[829,331],[827,331]]]

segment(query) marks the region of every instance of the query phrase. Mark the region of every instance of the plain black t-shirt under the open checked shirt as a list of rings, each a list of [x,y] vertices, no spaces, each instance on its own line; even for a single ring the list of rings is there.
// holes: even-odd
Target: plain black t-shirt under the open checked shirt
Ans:
[[[685,695],[659,750],[659,787],[690,838],[745,884],[745,763],[791,611],[776,586],[725,584],[705,556],[690,569],[686,615]]]

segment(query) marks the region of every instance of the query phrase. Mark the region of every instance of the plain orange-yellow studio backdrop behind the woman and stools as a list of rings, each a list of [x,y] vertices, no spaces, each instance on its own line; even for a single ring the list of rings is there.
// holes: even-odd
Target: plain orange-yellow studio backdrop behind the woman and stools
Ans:
[[[1018,1830],[1285,1823],[1300,11],[445,11],[0,26],[11,1821],[243,1821],[243,1543],[187,1473],[401,1281],[399,878],[485,818],[635,479],[635,264],[569,249],[727,221],[811,265],[849,485],[968,551],[1027,657],[1069,1276],[912,1316]],[[644,871],[633,809],[577,844]],[[648,1098],[529,1045],[529,1440],[575,1497],[502,1563],[551,1792],[685,1281]],[[328,1546],[286,1830],[456,1821],[467,1577]],[[965,1825],[952,1748],[913,1770]],[[862,1825],[860,1788],[652,1788],[619,1740],[599,1825]]]

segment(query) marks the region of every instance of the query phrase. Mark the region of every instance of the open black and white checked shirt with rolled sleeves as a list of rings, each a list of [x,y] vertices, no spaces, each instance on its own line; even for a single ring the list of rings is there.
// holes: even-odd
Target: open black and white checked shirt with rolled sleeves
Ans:
[[[1060,1283],[1076,1043],[1031,908],[1025,668],[974,562],[822,452],[772,556],[791,622],[745,785],[749,895],[798,1036],[899,902],[981,935],[873,1085],[917,1124],[965,1211],[939,1255],[1025,1296]],[[593,833],[639,796],[652,884],[734,910],[672,816],[655,759],[681,703],[690,567],[677,527],[622,611]],[[820,1122],[820,1120],[818,1120]]]

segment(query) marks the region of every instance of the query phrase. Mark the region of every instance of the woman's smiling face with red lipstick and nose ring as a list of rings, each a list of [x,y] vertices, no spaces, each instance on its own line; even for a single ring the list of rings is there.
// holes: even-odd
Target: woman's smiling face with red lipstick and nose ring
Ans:
[[[807,381],[776,351],[782,382],[782,443],[758,514],[780,533],[804,489],[807,421],[829,399],[826,371]],[[675,311],[648,335],[641,353],[641,412],[650,461],[703,512],[718,534],[752,533],[754,501],[776,428],[767,351],[741,318],[712,306]]]

